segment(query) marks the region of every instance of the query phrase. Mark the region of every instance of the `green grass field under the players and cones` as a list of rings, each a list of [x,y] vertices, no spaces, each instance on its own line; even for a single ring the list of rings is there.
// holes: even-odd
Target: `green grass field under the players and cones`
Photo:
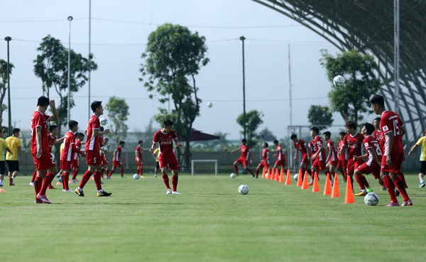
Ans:
[[[79,175],[78,178],[81,178]],[[0,193],[0,261],[424,261],[426,189],[407,175],[413,207],[377,207],[240,175],[180,175],[182,195],[161,178],[104,180],[111,197],[48,190],[33,204],[29,177]],[[249,185],[249,195],[237,187]],[[70,185],[74,190],[75,184]],[[357,187],[355,187],[357,188]],[[357,189],[356,189],[357,191]],[[402,203],[402,197],[398,197]]]

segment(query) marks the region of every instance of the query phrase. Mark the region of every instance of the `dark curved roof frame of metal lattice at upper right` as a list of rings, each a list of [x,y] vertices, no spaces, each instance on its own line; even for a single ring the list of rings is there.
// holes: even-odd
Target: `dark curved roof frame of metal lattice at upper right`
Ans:
[[[378,62],[386,107],[395,102],[393,1],[252,0],[310,28],[339,50],[358,50]],[[400,116],[413,141],[426,129],[426,0],[400,1]]]

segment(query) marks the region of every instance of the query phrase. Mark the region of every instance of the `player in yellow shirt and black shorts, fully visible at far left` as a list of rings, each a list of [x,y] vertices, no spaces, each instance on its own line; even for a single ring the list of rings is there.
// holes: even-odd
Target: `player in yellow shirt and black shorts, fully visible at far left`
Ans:
[[[20,129],[12,129],[12,135],[6,138],[6,143],[12,153],[6,153],[6,163],[9,168],[9,185],[15,185],[14,179],[19,173],[19,165],[22,163],[21,139],[18,138]]]

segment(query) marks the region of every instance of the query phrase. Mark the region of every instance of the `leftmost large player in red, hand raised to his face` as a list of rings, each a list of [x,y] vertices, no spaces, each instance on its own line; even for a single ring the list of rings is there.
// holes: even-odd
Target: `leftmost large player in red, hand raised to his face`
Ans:
[[[45,114],[49,106],[53,116]],[[37,110],[31,118],[31,155],[33,155],[35,170],[37,170],[37,176],[34,180],[35,204],[52,204],[45,194],[50,182],[55,178],[53,174],[58,173],[58,169],[55,165],[55,158],[49,152],[48,121],[58,121],[58,119],[55,100],[39,97]],[[49,170],[49,172],[46,173],[46,170]]]

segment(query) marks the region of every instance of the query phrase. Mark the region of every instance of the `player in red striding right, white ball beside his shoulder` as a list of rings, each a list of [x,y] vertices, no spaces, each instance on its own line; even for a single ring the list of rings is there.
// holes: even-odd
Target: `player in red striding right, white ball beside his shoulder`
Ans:
[[[100,131],[100,122],[99,116],[104,114],[104,107],[102,107],[102,102],[94,101],[90,105],[90,108],[93,111],[92,116],[89,119],[89,124],[87,125],[84,133],[87,136],[86,145],[84,149],[86,151],[86,163],[88,165],[87,171],[82,176],[82,180],[80,181],[80,185],[75,190],[75,193],[79,197],[84,197],[83,188],[86,185],[87,181],[89,181],[90,177],[94,176],[94,184],[97,188],[97,196],[98,197],[109,197],[111,193],[105,192],[102,190],[102,182],[101,182],[101,153],[100,153],[100,142],[102,136],[107,135],[109,133],[109,129],[105,129],[104,131]]]

